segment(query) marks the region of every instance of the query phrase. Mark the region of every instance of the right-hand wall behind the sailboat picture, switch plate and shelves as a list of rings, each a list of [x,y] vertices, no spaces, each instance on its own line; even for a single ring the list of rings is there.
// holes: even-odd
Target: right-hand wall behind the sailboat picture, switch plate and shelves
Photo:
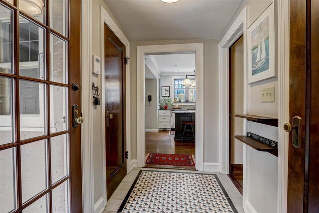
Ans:
[[[247,6],[247,27],[249,27],[272,2],[272,0],[246,0],[237,10],[233,17],[233,21],[242,9]],[[275,1],[275,3],[277,3],[277,1]],[[275,21],[276,20],[275,12]],[[231,21],[229,25],[231,25],[233,21]],[[228,28],[225,31],[227,30]],[[275,32],[277,32],[277,30],[275,30]],[[275,47],[275,49],[277,49],[277,47]],[[262,103],[260,95],[261,90],[273,86],[275,87],[275,102]],[[247,114],[278,118],[278,78],[247,85],[247,90]],[[275,127],[248,122],[247,131],[278,141],[278,128]],[[247,146],[246,159],[247,164],[244,165],[244,167],[246,167],[247,171],[245,174],[247,197],[244,202],[250,203],[251,207],[258,213],[276,213],[278,178],[277,157],[269,153],[259,152]],[[253,212],[254,210],[248,209],[247,212]]]

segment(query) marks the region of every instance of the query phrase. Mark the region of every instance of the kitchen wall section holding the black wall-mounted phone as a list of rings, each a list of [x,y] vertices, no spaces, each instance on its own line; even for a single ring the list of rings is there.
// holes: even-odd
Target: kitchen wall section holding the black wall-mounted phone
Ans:
[[[145,129],[158,129],[157,79],[145,79]],[[152,95],[149,106],[148,95]]]

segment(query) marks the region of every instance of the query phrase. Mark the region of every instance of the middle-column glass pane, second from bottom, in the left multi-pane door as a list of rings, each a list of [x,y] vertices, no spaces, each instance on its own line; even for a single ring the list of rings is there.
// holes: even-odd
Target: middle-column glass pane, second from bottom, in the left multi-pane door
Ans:
[[[21,145],[22,202],[48,188],[47,140]]]

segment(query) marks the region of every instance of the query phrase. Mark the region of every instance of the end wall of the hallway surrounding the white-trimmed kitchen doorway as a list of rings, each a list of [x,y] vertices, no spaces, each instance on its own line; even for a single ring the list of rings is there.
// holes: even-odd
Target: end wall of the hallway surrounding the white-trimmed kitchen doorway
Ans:
[[[218,43],[219,40],[131,41],[131,157],[137,159],[136,47],[145,45],[204,43],[204,162],[218,163]],[[164,76],[161,76],[161,82]],[[165,81],[165,80],[164,80]],[[162,84],[162,83],[161,83]],[[171,83],[170,83],[171,84]],[[169,85],[170,85],[169,84]],[[171,85],[170,85],[171,86]]]

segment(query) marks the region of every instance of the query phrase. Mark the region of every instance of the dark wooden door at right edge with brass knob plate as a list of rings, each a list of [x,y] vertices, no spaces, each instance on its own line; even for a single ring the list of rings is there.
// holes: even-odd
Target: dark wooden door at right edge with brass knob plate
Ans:
[[[288,213],[319,210],[319,1],[290,1],[290,123],[302,118],[301,147],[289,136]]]

